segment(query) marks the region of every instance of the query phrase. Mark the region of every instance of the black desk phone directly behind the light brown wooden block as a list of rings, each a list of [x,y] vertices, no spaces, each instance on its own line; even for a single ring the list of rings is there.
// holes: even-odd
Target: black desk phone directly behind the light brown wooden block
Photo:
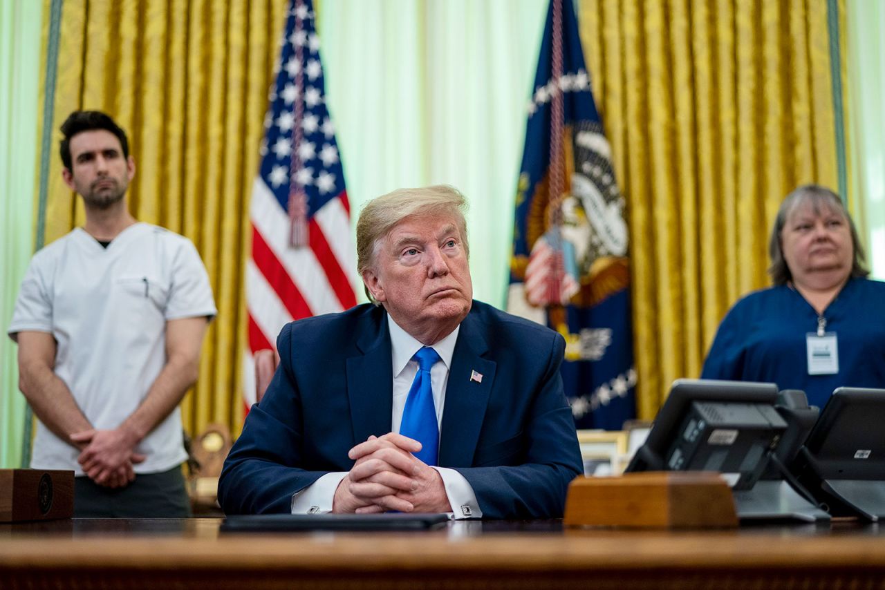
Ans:
[[[793,414],[778,407],[785,404]],[[827,520],[783,479],[759,480],[771,456],[795,454],[808,425],[793,424],[794,414],[812,411],[796,393],[779,397],[773,383],[677,379],[627,471],[719,471],[741,520]]]

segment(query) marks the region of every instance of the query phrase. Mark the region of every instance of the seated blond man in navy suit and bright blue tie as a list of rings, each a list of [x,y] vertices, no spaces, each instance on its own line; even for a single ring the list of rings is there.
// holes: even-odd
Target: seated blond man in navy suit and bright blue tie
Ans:
[[[366,204],[372,303],[283,328],[281,364],[221,473],[227,514],[562,516],[582,471],[565,341],[473,301],[465,208],[450,187]]]

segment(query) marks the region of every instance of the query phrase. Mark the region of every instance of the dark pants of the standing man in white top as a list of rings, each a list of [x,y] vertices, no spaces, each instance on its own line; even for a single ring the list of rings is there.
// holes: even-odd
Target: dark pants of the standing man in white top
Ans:
[[[190,516],[181,465],[162,473],[135,475],[127,487],[73,479],[73,516],[91,518],[184,518]]]

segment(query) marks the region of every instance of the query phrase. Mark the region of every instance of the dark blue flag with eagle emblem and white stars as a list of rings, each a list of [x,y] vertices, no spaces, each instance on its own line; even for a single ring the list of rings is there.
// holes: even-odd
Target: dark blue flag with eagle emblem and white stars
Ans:
[[[528,103],[508,309],[566,338],[579,428],[635,417],[624,197],[590,92],[571,0],[551,0]]]

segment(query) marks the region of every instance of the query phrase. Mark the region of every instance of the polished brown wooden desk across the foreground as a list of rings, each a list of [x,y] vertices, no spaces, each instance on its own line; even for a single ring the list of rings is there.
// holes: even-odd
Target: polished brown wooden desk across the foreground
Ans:
[[[0,525],[0,588],[885,588],[876,527],[219,533],[219,519]]]

